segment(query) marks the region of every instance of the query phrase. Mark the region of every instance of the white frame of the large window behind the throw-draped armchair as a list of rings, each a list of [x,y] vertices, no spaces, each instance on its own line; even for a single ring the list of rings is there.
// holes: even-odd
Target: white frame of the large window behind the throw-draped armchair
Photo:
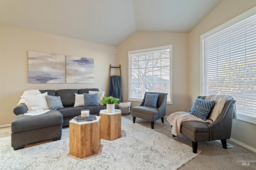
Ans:
[[[252,16],[256,15],[256,7],[244,12],[243,14],[240,14],[239,16],[233,18],[232,20],[229,20],[227,21],[226,23],[223,23],[222,25],[208,31],[207,33],[204,33],[203,35],[200,36],[200,94],[202,94],[202,86],[203,86],[203,80],[202,80],[202,61],[203,61],[203,48],[202,48],[202,45],[203,45],[203,39],[205,37],[210,37],[212,35],[214,35],[215,33],[218,33],[232,25],[235,25],[236,23],[239,23],[240,21],[243,21],[243,20],[246,20],[247,18],[250,18]],[[244,115],[244,114],[240,114],[240,113],[237,113],[237,119],[238,120],[241,120],[241,121],[246,121],[248,123],[253,123],[253,124],[256,124],[256,118],[255,117],[251,117],[251,116],[247,116],[247,115]]]

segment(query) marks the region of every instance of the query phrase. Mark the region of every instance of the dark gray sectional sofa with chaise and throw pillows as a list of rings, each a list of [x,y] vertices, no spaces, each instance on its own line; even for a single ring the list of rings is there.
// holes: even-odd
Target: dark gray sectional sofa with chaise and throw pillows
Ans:
[[[24,103],[14,108],[17,116],[12,121],[12,147],[14,150],[23,148],[28,143],[52,139],[59,140],[62,135],[62,127],[68,127],[69,121],[80,115],[82,109],[90,109],[90,114],[99,115],[100,110],[106,106],[74,107],[75,93],[84,94],[89,91],[99,91],[97,88],[40,90],[48,92],[50,96],[60,96],[63,109],[51,110],[37,116],[24,115],[27,107]]]

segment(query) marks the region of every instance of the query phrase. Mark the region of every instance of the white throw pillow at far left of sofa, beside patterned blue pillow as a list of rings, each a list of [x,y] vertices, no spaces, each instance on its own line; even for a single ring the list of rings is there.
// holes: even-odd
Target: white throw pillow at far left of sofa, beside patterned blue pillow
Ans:
[[[36,111],[36,110],[47,110],[48,104],[44,95],[36,95],[36,96],[20,96],[22,101],[24,101],[25,105],[28,108],[28,112]]]

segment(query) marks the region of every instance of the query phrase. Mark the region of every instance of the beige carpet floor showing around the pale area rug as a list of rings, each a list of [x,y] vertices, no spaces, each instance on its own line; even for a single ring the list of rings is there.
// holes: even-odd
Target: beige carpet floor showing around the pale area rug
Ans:
[[[122,115],[122,117],[130,119],[132,121],[131,114]],[[151,123],[144,119],[136,118],[135,124],[140,124],[148,129],[151,129]],[[166,117],[164,117],[164,123],[161,122],[161,119],[155,121],[154,131],[190,146],[192,152],[192,142],[188,138],[184,137],[182,134],[179,134],[176,137],[172,137],[171,125],[166,120]],[[10,137],[10,135],[10,127],[0,128],[0,138]],[[42,143],[46,142],[47,141],[29,144],[26,145],[25,148],[41,145]],[[198,156],[178,168],[178,170],[256,170],[256,152],[246,149],[230,140],[227,140],[227,142],[233,147],[223,149],[222,145],[216,141],[199,142],[198,150],[201,150],[202,152]],[[2,146],[0,148],[2,148]],[[0,154],[3,155],[5,153],[0,152]],[[15,161],[15,159],[13,159],[12,161]],[[245,161],[250,161],[250,164],[245,164]]]

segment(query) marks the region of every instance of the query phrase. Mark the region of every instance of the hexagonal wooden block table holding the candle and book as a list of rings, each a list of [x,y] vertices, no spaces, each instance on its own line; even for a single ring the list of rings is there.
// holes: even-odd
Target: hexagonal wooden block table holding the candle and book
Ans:
[[[100,149],[100,116],[97,120],[69,121],[69,153],[78,158],[97,154]]]

